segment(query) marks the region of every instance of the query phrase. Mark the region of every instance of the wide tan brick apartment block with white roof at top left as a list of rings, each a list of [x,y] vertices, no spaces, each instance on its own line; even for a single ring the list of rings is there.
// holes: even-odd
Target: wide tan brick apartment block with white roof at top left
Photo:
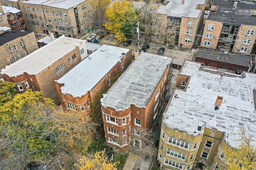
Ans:
[[[28,0],[19,5],[31,31],[75,38],[87,32],[91,24],[93,12],[86,0]]]

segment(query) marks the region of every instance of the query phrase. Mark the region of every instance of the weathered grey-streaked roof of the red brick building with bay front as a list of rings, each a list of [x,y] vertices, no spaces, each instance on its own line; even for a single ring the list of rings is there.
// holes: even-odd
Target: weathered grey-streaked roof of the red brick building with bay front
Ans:
[[[140,53],[100,100],[102,106],[124,110],[131,104],[146,107],[172,58]]]

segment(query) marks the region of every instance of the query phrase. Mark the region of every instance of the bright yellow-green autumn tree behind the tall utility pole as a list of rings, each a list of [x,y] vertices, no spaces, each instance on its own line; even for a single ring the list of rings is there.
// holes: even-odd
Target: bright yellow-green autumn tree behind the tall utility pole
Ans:
[[[126,41],[125,34],[134,32],[135,22],[139,19],[137,12],[133,3],[128,0],[113,2],[106,10],[106,29],[115,32],[118,40]]]

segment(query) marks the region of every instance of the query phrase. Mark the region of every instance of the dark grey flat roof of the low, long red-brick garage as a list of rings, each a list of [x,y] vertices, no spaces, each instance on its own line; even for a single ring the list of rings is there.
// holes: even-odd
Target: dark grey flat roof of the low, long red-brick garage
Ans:
[[[199,48],[198,52],[196,53],[196,57],[238,64],[242,66],[250,66],[250,56],[243,54],[224,53],[224,51]]]

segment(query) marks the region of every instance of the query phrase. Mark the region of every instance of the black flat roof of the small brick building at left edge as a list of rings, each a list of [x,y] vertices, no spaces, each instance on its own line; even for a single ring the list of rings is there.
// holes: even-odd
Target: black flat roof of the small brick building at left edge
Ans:
[[[29,33],[32,33],[32,31],[23,31],[19,29],[13,29],[10,32],[2,33],[0,34],[0,45],[8,43],[18,37],[23,37]]]

